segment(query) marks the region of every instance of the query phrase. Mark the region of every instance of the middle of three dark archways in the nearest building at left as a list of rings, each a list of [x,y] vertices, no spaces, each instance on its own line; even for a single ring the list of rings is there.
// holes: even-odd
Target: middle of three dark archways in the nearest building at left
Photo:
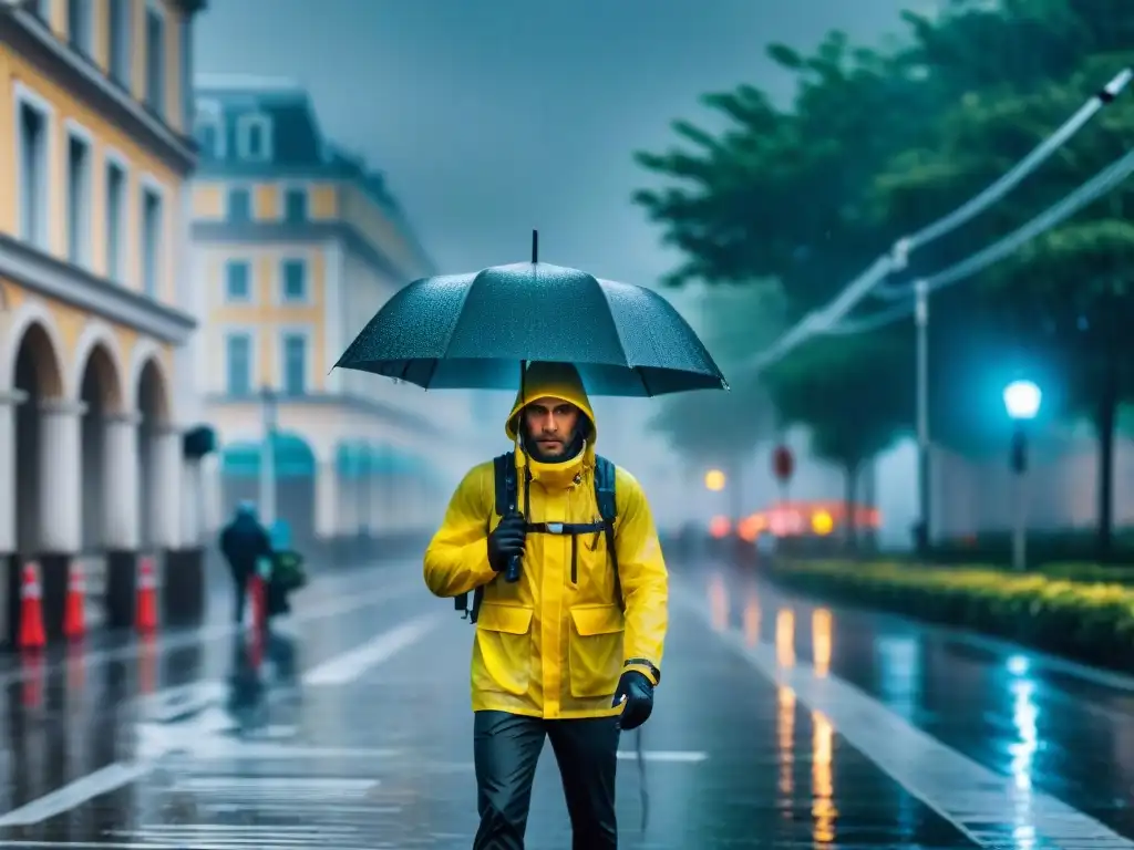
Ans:
[[[101,343],[91,349],[79,374],[79,399],[85,408],[79,437],[83,458],[82,550],[93,553],[107,544],[107,510],[113,498],[108,470],[107,420],[122,414],[124,393],[115,360]]]

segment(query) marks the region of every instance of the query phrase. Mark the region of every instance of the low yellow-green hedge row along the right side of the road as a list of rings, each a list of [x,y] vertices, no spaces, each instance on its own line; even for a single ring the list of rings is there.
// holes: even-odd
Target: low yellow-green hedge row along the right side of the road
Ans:
[[[988,568],[779,561],[768,570],[780,585],[832,602],[972,629],[1088,664],[1134,668],[1134,587],[1099,580],[1110,572],[1106,568],[1015,575]]]

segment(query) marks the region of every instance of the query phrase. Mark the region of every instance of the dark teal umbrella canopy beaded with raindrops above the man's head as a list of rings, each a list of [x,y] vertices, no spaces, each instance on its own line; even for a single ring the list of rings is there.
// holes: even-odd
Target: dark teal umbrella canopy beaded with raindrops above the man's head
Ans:
[[[538,262],[411,283],[336,366],[428,390],[511,390],[525,360],[575,364],[595,396],[728,389],[660,295]]]

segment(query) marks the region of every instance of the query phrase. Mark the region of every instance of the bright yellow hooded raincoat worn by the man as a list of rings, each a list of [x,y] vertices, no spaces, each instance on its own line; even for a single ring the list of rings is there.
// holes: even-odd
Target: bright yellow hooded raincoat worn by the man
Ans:
[[[532,364],[524,396],[569,401],[595,424],[573,367]],[[505,427],[509,439],[516,439],[523,406],[517,393]],[[523,466],[532,467],[530,522],[599,519],[595,436],[592,433],[577,457],[559,464],[541,464],[516,452],[519,505]],[[578,537],[574,578],[569,535],[528,534],[521,580],[497,579],[488,561],[488,533],[499,521],[494,482],[491,461],[474,467],[458,485],[425,551],[425,584],[435,595],[458,596],[484,585],[473,644],[473,711],[548,719],[620,713],[621,707],[611,708],[610,703],[624,670],[638,670],[658,683],[649,665],[625,662],[644,660],[660,670],[668,624],[666,563],[642,487],[617,468],[615,545],[624,612],[602,533]]]

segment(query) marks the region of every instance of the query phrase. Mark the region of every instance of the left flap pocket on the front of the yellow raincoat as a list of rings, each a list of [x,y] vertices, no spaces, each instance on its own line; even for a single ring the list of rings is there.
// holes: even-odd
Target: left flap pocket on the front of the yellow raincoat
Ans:
[[[532,678],[532,609],[481,604],[476,620],[473,687],[519,696]]]

